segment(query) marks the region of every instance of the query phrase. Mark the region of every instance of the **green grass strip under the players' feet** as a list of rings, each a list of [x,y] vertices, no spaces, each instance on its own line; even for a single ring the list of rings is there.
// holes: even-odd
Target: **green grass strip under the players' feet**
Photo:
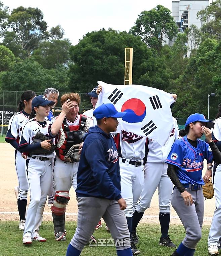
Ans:
[[[65,228],[67,229],[67,241],[56,242],[53,236],[53,223],[44,221],[40,234],[47,238],[47,242],[33,242],[32,245],[24,246],[22,244],[22,231],[18,230],[17,221],[1,221],[0,222],[0,255],[1,256],[65,256],[69,242],[74,234],[76,223],[67,222]],[[169,256],[173,253],[174,249],[159,246],[160,238],[160,225],[158,224],[141,224],[138,228],[140,236],[140,243],[137,248],[141,251],[140,256]],[[209,233],[209,226],[203,227],[203,236],[197,245],[194,255],[203,256],[208,255],[207,238]],[[179,245],[185,235],[184,228],[180,225],[170,226],[170,237],[172,241]],[[94,236],[98,243],[99,238],[110,238],[110,233],[102,227],[95,230]],[[99,243],[100,244],[100,243]],[[86,246],[81,255],[85,256],[114,256],[117,255],[114,246]]]

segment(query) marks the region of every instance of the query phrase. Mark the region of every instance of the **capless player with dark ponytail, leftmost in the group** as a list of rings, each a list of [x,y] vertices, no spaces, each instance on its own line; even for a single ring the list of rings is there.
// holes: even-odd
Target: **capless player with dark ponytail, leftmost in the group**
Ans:
[[[29,115],[32,111],[32,100],[35,96],[35,92],[30,90],[21,94],[21,100],[18,104],[18,113],[14,114],[9,120],[8,132],[5,137],[5,141],[15,148],[15,169],[18,178],[18,187],[15,187],[14,191],[17,197],[18,213],[20,217],[18,225],[19,230],[24,230],[25,228],[29,186],[26,178],[26,161],[24,155],[18,151],[18,143],[21,136],[21,129],[29,121]]]

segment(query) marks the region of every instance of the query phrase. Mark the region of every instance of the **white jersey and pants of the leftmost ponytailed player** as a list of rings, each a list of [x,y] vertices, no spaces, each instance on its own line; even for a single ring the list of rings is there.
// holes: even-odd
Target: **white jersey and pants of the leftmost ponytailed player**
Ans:
[[[29,114],[25,111],[20,111],[17,114],[13,115],[8,123],[8,132],[5,137],[7,142],[15,140],[19,143],[21,136],[21,129],[29,121]],[[26,178],[26,160],[21,157],[21,153],[18,150],[15,150],[15,169],[18,178],[19,193],[18,199],[27,200],[29,185]]]

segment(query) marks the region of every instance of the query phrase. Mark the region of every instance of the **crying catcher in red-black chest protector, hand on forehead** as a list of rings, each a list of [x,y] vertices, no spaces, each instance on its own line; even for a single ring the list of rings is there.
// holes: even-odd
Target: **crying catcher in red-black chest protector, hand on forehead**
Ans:
[[[55,136],[56,152],[53,170],[55,197],[51,206],[56,241],[66,240],[64,226],[66,205],[70,200],[69,190],[71,186],[74,189],[77,188],[79,159],[72,161],[65,155],[74,145],[79,147],[80,154],[82,147],[80,144],[83,142],[85,133],[92,126],[91,118],[78,114],[79,94],[67,93],[62,95],[61,104],[61,113],[52,120],[53,123],[50,127],[51,134]]]

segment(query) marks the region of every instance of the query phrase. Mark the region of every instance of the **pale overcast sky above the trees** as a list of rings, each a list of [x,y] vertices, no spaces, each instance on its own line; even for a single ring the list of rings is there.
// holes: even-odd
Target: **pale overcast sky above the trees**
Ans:
[[[60,24],[72,44],[87,32],[102,28],[129,31],[138,14],[158,4],[171,10],[172,0],[1,0],[10,11],[18,6],[38,7],[49,29]]]

